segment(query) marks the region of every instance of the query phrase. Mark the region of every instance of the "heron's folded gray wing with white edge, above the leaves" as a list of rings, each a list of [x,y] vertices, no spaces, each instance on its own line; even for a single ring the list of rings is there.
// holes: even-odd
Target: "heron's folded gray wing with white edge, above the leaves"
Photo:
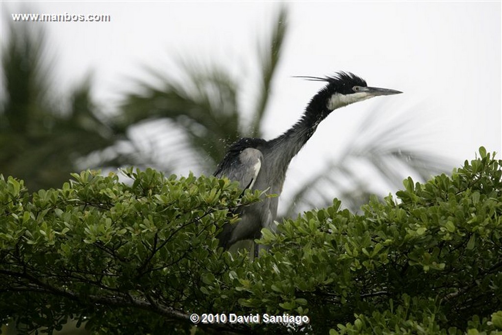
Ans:
[[[237,157],[222,163],[215,177],[238,181],[242,189],[252,188],[262,168],[263,154],[258,149],[246,148]]]

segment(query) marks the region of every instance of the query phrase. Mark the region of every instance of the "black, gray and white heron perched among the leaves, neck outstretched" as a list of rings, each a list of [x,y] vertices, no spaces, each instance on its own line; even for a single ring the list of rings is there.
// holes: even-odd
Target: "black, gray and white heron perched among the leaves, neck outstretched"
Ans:
[[[368,87],[366,81],[350,72],[337,72],[332,76],[310,77],[307,80],[325,82],[305,108],[303,115],[289,130],[273,140],[242,138],[233,143],[218,164],[217,178],[238,181],[242,189],[262,190],[276,197],[264,197],[260,202],[238,208],[236,224],[225,224],[218,234],[219,246],[228,249],[237,241],[258,239],[263,228],[275,231],[279,196],[282,192],[288,166],[307,143],[317,126],[333,110],[379,95],[402,93],[394,89]],[[258,247],[255,244],[255,257]]]

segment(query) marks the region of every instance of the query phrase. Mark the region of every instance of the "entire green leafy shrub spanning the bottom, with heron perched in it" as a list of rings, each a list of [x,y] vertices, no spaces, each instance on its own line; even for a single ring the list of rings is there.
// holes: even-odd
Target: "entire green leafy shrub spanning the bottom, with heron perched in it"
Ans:
[[[0,321],[24,331],[68,317],[96,333],[502,331],[502,161],[480,148],[451,177],[404,181],[361,214],[287,219],[260,258],[215,236],[259,201],[236,183],[153,170],[73,174],[29,194],[0,178]],[[307,315],[309,323],[199,323],[191,313]],[[262,319],[263,320],[263,319]]]

